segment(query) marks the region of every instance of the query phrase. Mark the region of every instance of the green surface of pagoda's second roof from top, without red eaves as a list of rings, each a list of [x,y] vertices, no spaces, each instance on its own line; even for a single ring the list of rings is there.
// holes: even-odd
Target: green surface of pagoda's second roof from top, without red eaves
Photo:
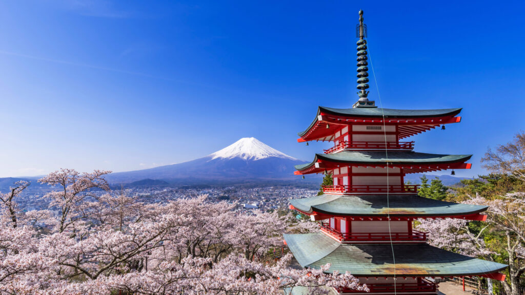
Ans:
[[[393,165],[410,165],[410,164],[447,164],[465,162],[472,155],[440,155],[417,153],[412,151],[399,152],[391,151],[388,154],[385,151],[378,152],[358,152],[342,151],[335,154],[316,154],[314,160],[308,164],[296,165],[297,170],[303,170],[315,164],[317,160],[328,162],[348,163],[348,164],[384,164],[386,162]]]

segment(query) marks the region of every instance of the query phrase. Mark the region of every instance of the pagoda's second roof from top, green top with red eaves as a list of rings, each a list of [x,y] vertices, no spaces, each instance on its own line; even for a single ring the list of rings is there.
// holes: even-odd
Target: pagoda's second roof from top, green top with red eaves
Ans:
[[[384,167],[388,162],[388,165],[391,167],[406,167],[408,168],[406,172],[411,173],[449,168],[459,169],[462,167],[445,164],[462,164],[468,161],[471,156],[428,154],[413,151],[342,151],[334,154],[316,154],[311,163],[296,165],[295,168],[299,172],[296,174],[308,174],[323,172],[325,168],[337,168],[338,164]],[[412,167],[413,171],[410,171],[410,167]],[[463,168],[470,168],[470,165]]]

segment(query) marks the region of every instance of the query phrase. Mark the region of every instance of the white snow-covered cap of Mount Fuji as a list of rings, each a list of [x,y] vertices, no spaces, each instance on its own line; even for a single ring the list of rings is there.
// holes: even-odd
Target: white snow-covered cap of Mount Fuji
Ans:
[[[239,157],[244,160],[260,160],[267,157],[278,157],[281,159],[297,160],[287,154],[260,142],[256,138],[241,138],[232,145],[209,155],[213,159],[233,159]]]

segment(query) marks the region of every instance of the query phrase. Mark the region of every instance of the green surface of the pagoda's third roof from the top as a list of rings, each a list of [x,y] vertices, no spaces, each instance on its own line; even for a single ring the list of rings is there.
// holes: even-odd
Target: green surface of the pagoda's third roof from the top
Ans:
[[[324,194],[290,199],[297,209],[330,215],[350,216],[455,216],[484,212],[488,206],[456,204],[416,195],[341,196]]]

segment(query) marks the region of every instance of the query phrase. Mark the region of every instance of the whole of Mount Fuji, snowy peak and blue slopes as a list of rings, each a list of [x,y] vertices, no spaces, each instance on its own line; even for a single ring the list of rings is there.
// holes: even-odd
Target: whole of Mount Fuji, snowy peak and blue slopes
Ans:
[[[298,176],[293,175],[293,166],[304,163],[306,162],[279,152],[256,138],[242,138],[200,159],[145,170],[111,173],[106,178],[113,184],[140,180],[299,180]]]

